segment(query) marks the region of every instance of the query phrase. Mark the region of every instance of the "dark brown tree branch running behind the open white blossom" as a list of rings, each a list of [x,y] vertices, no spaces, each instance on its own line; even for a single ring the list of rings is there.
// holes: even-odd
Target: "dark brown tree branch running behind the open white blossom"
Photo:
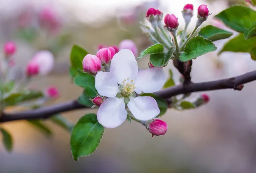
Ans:
[[[210,91],[233,88],[235,90],[241,90],[242,84],[252,82],[256,80],[256,71],[252,71],[243,74],[238,77],[232,77],[227,79],[215,80],[210,82],[201,83],[189,83],[187,85],[177,85],[170,88],[166,88],[162,91],[155,92],[154,94],[162,97],[163,99],[176,96],[178,94],[186,94],[198,91]],[[68,101],[58,105],[51,105],[44,108],[38,108],[35,110],[21,111],[17,113],[3,113],[0,117],[0,122],[9,122],[20,119],[47,119],[57,113],[71,111],[75,109],[87,108],[81,105],[77,100]]]

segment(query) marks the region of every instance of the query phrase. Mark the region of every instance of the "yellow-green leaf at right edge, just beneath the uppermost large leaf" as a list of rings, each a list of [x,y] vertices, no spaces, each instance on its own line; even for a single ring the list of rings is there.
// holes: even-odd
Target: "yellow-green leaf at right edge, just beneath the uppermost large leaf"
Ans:
[[[234,37],[233,39],[229,40],[218,54],[221,54],[221,52],[224,51],[250,52],[250,49],[254,45],[256,45],[256,37],[244,40],[244,35],[239,34],[237,37]]]

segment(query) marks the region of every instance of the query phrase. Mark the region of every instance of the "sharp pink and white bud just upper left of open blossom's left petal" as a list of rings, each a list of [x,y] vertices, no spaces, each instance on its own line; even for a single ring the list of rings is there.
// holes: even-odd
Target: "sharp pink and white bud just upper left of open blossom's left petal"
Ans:
[[[101,70],[101,61],[99,57],[91,54],[87,54],[83,60],[83,68],[87,73],[97,73]]]

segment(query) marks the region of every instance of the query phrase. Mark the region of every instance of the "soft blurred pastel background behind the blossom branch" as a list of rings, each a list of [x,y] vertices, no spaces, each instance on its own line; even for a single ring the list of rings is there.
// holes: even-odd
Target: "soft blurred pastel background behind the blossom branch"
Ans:
[[[17,44],[12,70],[19,75],[37,51],[51,51],[54,70],[47,77],[35,77],[30,86],[44,89],[55,85],[61,96],[49,104],[61,103],[82,92],[69,76],[74,43],[96,54],[100,45],[119,45],[130,39],[140,52],[151,45],[140,29],[140,21],[149,26],[147,9],[175,14],[181,30],[181,10],[186,3],[195,9],[190,31],[201,4],[207,4],[212,13],[204,25],[229,30],[213,16],[244,0],[0,0],[0,47],[9,40]],[[225,42],[215,42],[218,50]],[[193,82],[233,77],[256,68],[250,54],[224,52],[217,57],[217,52],[194,60]],[[147,63],[148,58],[141,60],[140,68],[148,68]],[[169,68],[178,82],[178,71],[169,63],[166,73]],[[54,132],[50,138],[25,121],[3,123],[1,126],[12,133],[14,150],[7,153],[0,143],[0,173],[256,173],[255,87],[256,82],[251,82],[243,91],[207,92],[210,102],[195,110],[169,109],[162,117],[169,127],[164,136],[151,138],[137,122],[125,121],[106,129],[96,152],[79,162],[74,162],[70,153],[70,134],[52,122],[47,122]],[[96,113],[79,110],[63,115],[75,123],[92,111]]]

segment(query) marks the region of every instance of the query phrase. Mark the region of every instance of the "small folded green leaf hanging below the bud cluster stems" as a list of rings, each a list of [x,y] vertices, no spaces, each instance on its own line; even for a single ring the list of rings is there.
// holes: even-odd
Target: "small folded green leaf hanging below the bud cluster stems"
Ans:
[[[154,67],[165,67],[172,57],[174,47],[170,48],[167,54],[151,54],[150,62]]]

